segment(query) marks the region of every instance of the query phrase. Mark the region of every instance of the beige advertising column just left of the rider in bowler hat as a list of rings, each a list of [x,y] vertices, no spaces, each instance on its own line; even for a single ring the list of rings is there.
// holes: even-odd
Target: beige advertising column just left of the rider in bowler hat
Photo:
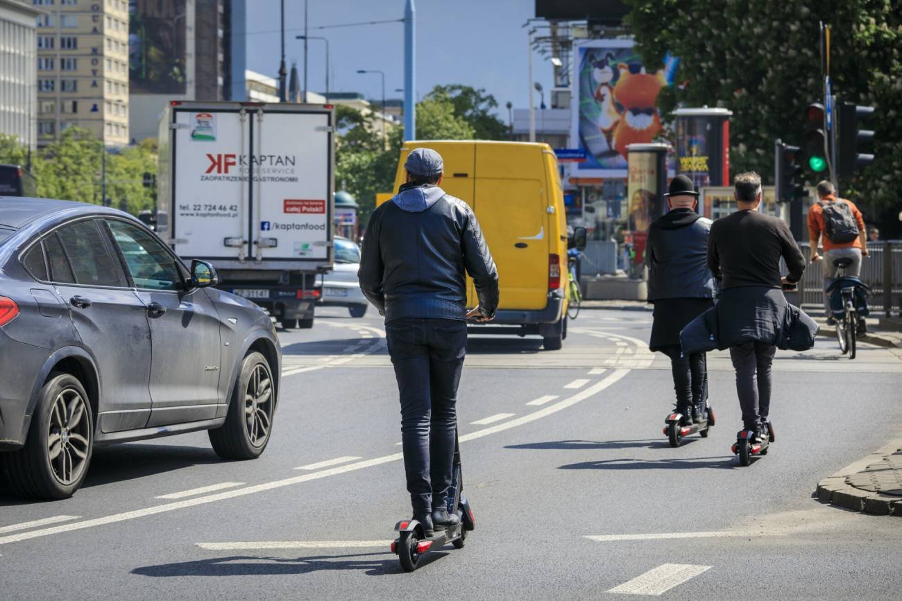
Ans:
[[[630,276],[641,278],[649,225],[666,212],[667,153],[669,144],[630,144],[627,147],[628,221],[623,245],[630,253]]]

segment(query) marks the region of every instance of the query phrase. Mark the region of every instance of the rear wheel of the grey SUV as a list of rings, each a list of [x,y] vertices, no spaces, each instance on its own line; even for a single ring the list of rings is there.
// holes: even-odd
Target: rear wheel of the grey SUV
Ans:
[[[85,387],[55,372],[38,393],[25,446],[0,453],[0,461],[17,496],[64,499],[84,482],[93,446],[94,415]]]

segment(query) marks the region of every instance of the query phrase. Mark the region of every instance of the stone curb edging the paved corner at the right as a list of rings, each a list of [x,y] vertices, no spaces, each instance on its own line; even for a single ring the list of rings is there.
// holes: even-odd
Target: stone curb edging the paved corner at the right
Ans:
[[[830,504],[852,511],[873,515],[895,515],[902,517],[902,496],[882,495],[851,486],[847,478],[858,474],[869,466],[884,460],[888,455],[902,451],[902,438],[879,448],[861,460],[840,469],[817,483],[815,497],[821,503]]]

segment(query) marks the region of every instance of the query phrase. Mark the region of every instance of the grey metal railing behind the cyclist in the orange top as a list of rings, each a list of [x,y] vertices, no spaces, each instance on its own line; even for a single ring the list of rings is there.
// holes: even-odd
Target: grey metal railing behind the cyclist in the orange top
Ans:
[[[799,244],[805,260],[811,256],[811,246]],[[785,268],[784,268],[785,269]],[[861,259],[861,281],[870,286],[870,310],[889,316],[890,311],[902,308],[902,241],[868,242],[868,256]],[[798,284],[802,306],[824,306],[823,261],[808,263]]]

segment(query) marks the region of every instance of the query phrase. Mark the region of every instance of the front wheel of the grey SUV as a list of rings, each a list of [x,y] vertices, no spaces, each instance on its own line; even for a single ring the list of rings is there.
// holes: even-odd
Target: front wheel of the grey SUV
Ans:
[[[275,407],[270,364],[261,353],[249,352],[235,381],[226,423],[207,431],[216,455],[227,460],[260,457],[270,441]]]

